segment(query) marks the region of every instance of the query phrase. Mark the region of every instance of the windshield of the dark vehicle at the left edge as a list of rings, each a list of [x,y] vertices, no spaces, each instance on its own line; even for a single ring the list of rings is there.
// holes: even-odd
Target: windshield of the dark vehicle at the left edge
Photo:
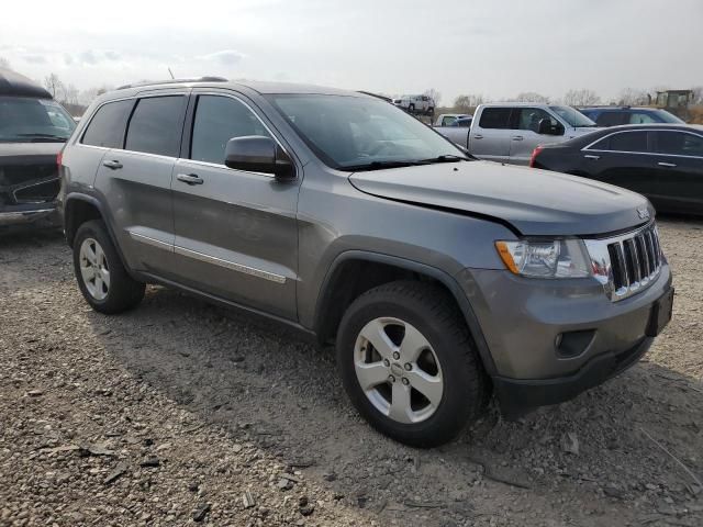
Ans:
[[[64,142],[75,127],[74,117],[56,101],[0,97],[0,142]]]

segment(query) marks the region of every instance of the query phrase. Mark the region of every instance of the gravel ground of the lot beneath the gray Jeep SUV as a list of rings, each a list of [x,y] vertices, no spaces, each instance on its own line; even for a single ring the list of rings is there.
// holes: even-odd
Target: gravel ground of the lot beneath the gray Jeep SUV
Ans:
[[[330,350],[163,288],[100,315],[58,235],[0,238],[0,525],[700,527],[703,223],[660,229],[645,360],[434,450],[371,430]]]

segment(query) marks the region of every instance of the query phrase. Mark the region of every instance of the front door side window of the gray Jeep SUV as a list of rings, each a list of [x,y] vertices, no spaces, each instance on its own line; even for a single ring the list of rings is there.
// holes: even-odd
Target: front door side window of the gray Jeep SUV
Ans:
[[[190,158],[224,165],[224,149],[233,137],[270,137],[258,117],[241,101],[223,96],[199,96],[193,120]]]

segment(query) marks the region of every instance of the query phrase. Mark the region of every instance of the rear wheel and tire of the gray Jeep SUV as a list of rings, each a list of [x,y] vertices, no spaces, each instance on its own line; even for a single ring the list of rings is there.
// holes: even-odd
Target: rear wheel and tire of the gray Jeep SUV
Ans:
[[[131,310],[144,298],[145,284],[130,277],[101,220],[78,227],[74,270],[83,298],[100,313]]]

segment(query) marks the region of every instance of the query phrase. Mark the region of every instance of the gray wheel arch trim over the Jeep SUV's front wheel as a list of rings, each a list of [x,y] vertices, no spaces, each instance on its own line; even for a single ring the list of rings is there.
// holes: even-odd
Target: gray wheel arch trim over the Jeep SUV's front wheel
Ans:
[[[335,258],[322,282],[315,304],[313,329],[319,340],[324,344],[334,338],[346,307],[359,294],[406,278],[436,282],[448,292],[466,321],[486,372],[493,375],[495,363],[471,303],[459,283],[442,269],[401,257],[348,250]]]

